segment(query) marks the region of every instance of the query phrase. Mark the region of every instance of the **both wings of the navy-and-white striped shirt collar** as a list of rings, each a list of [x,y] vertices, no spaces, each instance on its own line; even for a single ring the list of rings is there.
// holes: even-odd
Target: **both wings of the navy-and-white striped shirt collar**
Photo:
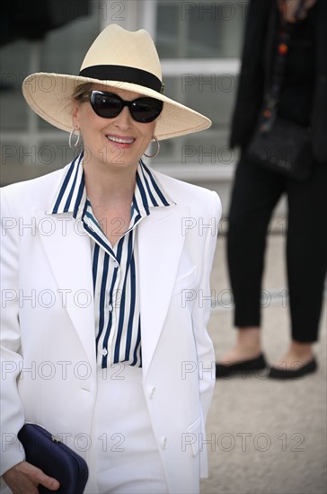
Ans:
[[[71,213],[76,219],[82,219],[86,209],[86,189],[84,182],[83,152],[70,163],[64,180],[49,208],[49,215]],[[137,181],[132,201],[133,210],[140,216],[150,214],[150,207],[167,207],[175,204],[154,173],[139,161]]]

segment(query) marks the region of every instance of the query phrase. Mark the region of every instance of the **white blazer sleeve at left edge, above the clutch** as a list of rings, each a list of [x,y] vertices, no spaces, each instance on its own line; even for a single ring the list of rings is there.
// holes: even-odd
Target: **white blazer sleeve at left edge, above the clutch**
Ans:
[[[24,422],[17,379],[22,369],[19,324],[19,218],[13,216],[1,191],[1,471],[24,460],[17,434]]]

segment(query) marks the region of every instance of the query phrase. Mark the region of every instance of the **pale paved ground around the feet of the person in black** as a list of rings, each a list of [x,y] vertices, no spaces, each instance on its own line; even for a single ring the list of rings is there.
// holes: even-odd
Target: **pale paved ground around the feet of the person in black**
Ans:
[[[289,341],[284,240],[282,232],[271,234],[267,251],[262,338],[270,363]],[[223,235],[212,288],[217,304],[209,331],[219,358],[235,337]],[[326,329],[325,298],[315,345],[320,368],[314,375],[296,382],[269,380],[264,373],[217,381],[207,428],[210,476],[201,483],[203,494],[326,493]]]

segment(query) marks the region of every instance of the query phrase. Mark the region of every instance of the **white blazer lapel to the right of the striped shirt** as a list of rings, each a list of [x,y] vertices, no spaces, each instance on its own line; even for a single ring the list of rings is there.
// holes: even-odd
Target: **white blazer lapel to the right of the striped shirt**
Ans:
[[[171,302],[188,207],[154,207],[138,229],[142,363],[149,368]]]

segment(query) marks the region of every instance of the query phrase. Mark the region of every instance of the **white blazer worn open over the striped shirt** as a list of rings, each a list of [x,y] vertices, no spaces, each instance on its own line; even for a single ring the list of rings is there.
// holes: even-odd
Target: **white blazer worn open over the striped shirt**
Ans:
[[[216,192],[152,172],[176,205],[154,207],[137,227],[144,393],[169,491],[195,492],[208,475],[209,276],[221,206]],[[1,473],[24,459],[16,437],[24,421],[53,434],[91,433],[90,242],[70,215],[47,215],[65,173],[2,190]]]

